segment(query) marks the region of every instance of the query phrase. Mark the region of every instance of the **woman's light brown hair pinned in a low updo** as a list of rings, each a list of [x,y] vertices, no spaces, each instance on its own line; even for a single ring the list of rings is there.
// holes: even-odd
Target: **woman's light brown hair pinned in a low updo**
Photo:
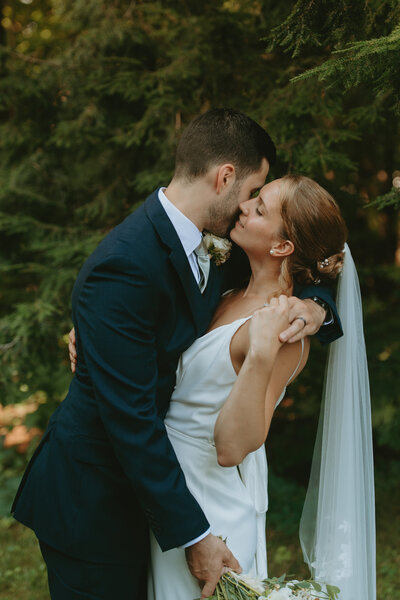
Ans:
[[[281,236],[294,252],[282,262],[282,283],[329,284],[340,273],[347,228],[335,200],[318,183],[286,175],[280,187]]]

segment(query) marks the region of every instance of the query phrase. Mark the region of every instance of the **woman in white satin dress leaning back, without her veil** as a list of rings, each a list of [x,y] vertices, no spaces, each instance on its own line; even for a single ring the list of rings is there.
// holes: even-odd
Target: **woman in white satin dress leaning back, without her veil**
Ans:
[[[165,424],[211,532],[244,572],[265,577],[264,442],[309,350],[308,341],[282,344],[278,335],[294,284],[329,283],[341,271],[346,227],[333,198],[301,176],[265,185],[240,210],[231,238],[249,258],[250,281],[225,294],[208,332],[182,355]],[[163,553],[154,536],[148,592],[149,600],[199,596],[185,550]]]

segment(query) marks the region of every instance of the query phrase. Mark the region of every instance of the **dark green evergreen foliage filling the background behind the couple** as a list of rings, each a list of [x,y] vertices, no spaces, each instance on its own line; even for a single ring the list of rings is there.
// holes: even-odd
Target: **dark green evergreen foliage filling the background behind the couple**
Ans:
[[[393,464],[400,450],[399,6],[0,1],[1,402],[40,392],[44,401],[27,422],[44,428],[70,379],[65,335],[81,264],[168,183],[185,124],[232,106],[276,141],[271,177],[309,175],[341,206],[363,291],[377,464]],[[313,343],[274,419],[272,494],[282,507],[285,495],[292,507],[302,502],[325,358]],[[25,460],[0,450],[1,511]],[[296,515],[278,514],[276,524],[283,519],[293,529]]]

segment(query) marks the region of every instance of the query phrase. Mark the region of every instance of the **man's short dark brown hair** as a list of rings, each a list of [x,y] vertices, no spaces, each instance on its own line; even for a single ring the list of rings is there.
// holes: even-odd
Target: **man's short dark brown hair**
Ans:
[[[253,119],[231,108],[215,108],[186,127],[176,151],[175,176],[195,179],[213,165],[232,163],[238,178],[275,162],[275,144]]]

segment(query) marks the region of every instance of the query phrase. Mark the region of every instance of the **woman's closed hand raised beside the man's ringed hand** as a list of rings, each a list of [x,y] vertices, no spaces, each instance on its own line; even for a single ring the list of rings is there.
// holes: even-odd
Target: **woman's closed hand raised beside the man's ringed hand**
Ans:
[[[279,334],[289,326],[289,302],[287,296],[272,298],[269,305],[257,310],[249,328],[249,350],[252,354],[265,356],[282,347]]]

